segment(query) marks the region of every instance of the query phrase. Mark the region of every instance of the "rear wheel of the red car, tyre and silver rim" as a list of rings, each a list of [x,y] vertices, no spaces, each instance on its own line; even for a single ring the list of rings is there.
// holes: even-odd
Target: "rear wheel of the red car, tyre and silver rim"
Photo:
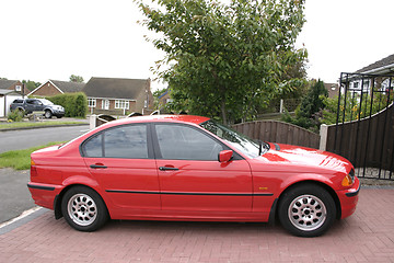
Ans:
[[[74,186],[66,192],[61,199],[61,213],[66,221],[79,231],[94,231],[108,220],[102,197],[85,186]]]

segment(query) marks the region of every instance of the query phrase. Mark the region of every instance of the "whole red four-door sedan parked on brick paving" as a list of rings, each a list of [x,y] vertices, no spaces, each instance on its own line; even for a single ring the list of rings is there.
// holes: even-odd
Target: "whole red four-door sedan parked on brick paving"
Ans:
[[[112,219],[268,221],[315,237],[350,216],[360,182],[346,159],[255,142],[207,117],[102,125],[32,153],[37,205],[81,231]]]

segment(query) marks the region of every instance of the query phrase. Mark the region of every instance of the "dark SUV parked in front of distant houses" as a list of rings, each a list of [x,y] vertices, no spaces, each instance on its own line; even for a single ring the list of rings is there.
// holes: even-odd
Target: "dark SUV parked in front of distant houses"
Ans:
[[[65,108],[62,106],[55,105],[46,99],[16,99],[11,103],[10,111],[21,111],[25,114],[44,112],[46,118],[51,118],[53,116],[61,118],[65,116]]]

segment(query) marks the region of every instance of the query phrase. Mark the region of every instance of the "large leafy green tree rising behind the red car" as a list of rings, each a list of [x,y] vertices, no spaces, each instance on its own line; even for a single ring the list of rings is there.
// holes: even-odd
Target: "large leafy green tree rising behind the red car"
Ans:
[[[135,1],[142,24],[162,36],[152,39],[166,53],[155,72],[169,83],[174,110],[252,119],[275,94],[294,89],[287,72],[306,57],[293,46],[304,0],[152,0],[158,9]]]

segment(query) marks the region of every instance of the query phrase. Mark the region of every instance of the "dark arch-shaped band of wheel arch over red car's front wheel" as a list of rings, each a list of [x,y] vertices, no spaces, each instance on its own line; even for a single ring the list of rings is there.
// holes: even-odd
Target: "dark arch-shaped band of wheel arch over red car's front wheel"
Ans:
[[[341,217],[341,209],[340,209],[340,201],[339,201],[339,197],[338,195],[335,193],[335,191],[327,184],[323,183],[323,182],[320,182],[320,181],[315,181],[315,180],[304,180],[304,181],[298,181],[298,182],[294,182],[290,185],[288,185],[281,193],[280,195],[278,196],[278,198],[276,199],[276,202],[274,202],[273,204],[273,207],[271,207],[271,213],[274,213],[274,215],[270,215],[270,221],[271,220],[276,220],[278,218],[278,206],[280,204],[280,201],[281,198],[283,197],[283,195],[291,191],[292,188],[296,188],[300,185],[303,185],[303,184],[315,184],[315,185],[318,185],[321,187],[323,187],[324,190],[326,190],[328,192],[328,194],[333,197],[334,199],[334,203],[335,203],[335,208],[336,208],[336,218],[337,219],[340,219]],[[275,207],[274,207],[275,206]]]

